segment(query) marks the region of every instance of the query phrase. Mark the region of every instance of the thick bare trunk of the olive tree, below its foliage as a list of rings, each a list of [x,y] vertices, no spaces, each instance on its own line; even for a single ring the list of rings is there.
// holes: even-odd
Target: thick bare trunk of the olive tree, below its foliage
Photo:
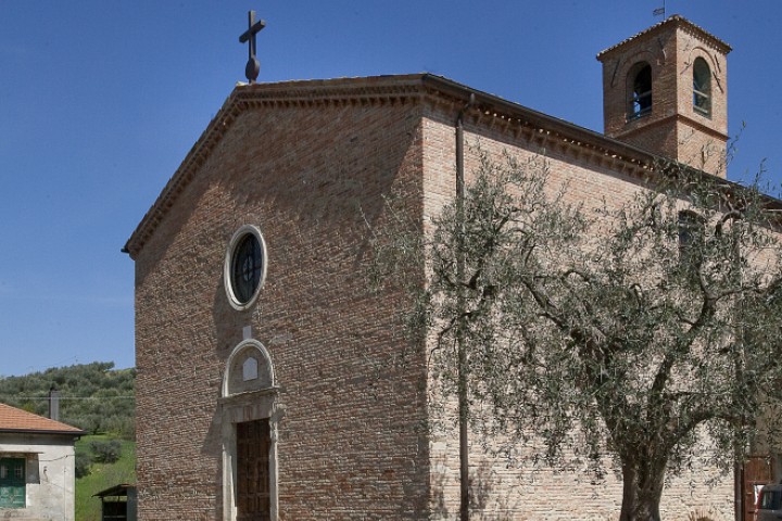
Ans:
[[[660,521],[659,501],[665,483],[665,461],[633,458],[622,461],[622,508],[619,521]]]

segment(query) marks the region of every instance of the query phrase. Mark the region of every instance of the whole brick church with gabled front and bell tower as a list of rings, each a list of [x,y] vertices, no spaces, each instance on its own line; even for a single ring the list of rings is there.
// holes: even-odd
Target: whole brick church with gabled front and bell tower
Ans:
[[[457,440],[422,427],[426,346],[393,364],[405,298],[367,289],[366,224],[388,218],[390,193],[436,215],[478,143],[544,153],[584,198],[629,198],[659,157],[724,177],[730,50],[673,15],[601,52],[604,134],[428,74],[255,84],[249,71],[125,245],[139,519],[456,519]],[[617,479],[530,474],[481,450],[474,519],[618,514]],[[744,496],[779,481],[773,459]],[[735,519],[733,476],[714,478],[704,465],[671,479],[664,518]]]

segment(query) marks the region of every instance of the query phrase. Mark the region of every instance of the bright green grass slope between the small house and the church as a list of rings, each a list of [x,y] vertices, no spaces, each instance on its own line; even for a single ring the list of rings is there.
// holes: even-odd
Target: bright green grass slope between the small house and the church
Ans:
[[[83,436],[76,442],[77,453],[89,453],[91,441],[110,441],[114,436]],[[122,456],[115,463],[92,463],[90,474],[76,480],[76,521],[100,521],[101,501],[92,497],[121,483],[136,483],[136,443],[121,440]]]

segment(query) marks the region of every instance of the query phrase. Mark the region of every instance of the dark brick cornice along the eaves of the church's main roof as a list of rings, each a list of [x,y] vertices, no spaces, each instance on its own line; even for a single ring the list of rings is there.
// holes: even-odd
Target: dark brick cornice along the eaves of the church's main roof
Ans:
[[[362,106],[426,100],[453,103],[462,107],[470,99],[472,103],[468,116],[474,120],[483,124],[487,119],[491,119],[491,125],[507,127],[515,135],[525,135],[530,141],[539,142],[546,149],[560,152],[577,150],[579,157],[590,158],[616,171],[639,176],[658,168],[661,162],[672,161],[494,94],[430,74],[239,85],[143,216],[123,252],[136,258],[175,204],[179,193],[220,142],[227,129],[247,111],[265,106]],[[711,177],[705,173],[703,175]],[[728,180],[721,182],[726,186],[735,185]]]

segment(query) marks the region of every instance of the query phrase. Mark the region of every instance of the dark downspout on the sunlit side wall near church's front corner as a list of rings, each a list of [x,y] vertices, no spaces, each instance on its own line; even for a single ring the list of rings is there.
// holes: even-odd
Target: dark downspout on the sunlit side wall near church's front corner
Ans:
[[[464,234],[465,234],[465,176],[464,176],[464,113],[475,103],[475,94],[470,93],[469,101],[456,116],[456,220],[458,223],[458,237],[456,238],[456,281],[457,288],[457,310],[464,313],[465,297],[464,280]],[[467,401],[467,350],[464,345],[463,323],[457,322],[456,327],[457,373],[458,373],[458,415],[459,415],[459,520],[469,520],[469,450],[467,439],[467,423],[469,419],[469,404]]]

